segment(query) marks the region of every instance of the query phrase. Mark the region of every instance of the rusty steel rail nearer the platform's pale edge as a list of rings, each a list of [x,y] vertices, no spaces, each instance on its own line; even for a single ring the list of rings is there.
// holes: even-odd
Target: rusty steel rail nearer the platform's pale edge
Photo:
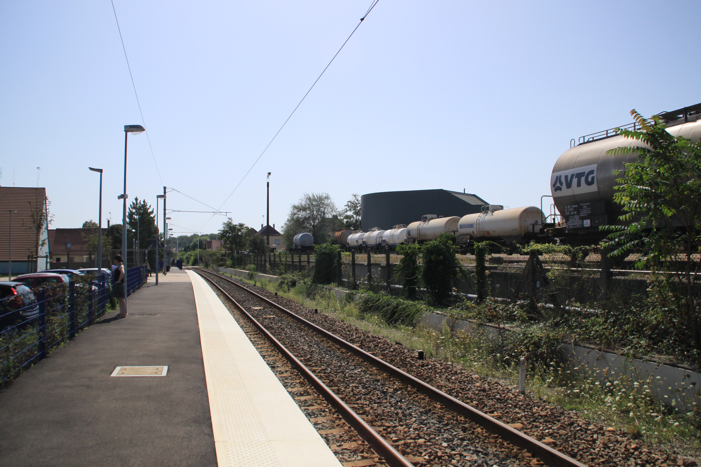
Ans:
[[[197,271],[199,272],[199,271]],[[217,274],[218,276],[219,274]],[[334,393],[331,389],[324,384],[321,379],[316,377],[311,370],[309,370],[304,363],[301,363],[297,357],[295,357],[292,352],[287,350],[287,347],[285,347],[283,344],[280,343],[273,335],[268,332],[268,330],[259,323],[249,312],[245,310],[244,307],[242,307],[234,298],[226,293],[223,288],[221,288],[219,285],[215,283],[215,281],[212,281],[209,277],[206,277],[204,274],[200,272],[200,276],[206,279],[207,281],[210,281],[212,285],[214,285],[216,288],[219,289],[224,295],[226,295],[226,298],[229,298],[231,302],[233,302],[234,305],[242,312],[243,314],[246,315],[246,317],[253,323],[253,326],[255,326],[261,334],[266,337],[267,340],[273,344],[273,347],[277,349],[280,354],[285,357],[285,360],[290,362],[290,364],[299,372],[299,374],[306,379],[309,384],[313,386],[313,388],[324,398],[329,405],[334,407],[339,414],[341,414],[341,417],[343,417],[343,420],[348,423],[355,431],[358,432],[358,435],[360,435],[360,438],[364,439],[370,447],[374,450],[376,454],[379,456],[382,456],[387,463],[392,466],[392,467],[414,467],[414,464],[407,461],[407,459],[400,454],[400,452],[397,451],[392,445],[390,445],[384,438],[382,438],[379,433],[374,431],[358,414],[356,414],[351,407],[348,407],[346,403],[343,403],[343,400],[339,398],[339,396],[336,396],[336,393]],[[224,278],[226,279],[226,278]]]

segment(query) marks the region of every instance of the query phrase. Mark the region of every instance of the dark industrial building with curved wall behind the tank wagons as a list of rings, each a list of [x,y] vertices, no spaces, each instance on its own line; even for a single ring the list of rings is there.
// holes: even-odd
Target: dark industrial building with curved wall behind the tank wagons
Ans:
[[[421,221],[424,214],[465,216],[489,204],[477,195],[449,190],[409,190],[368,193],[360,197],[362,230],[387,230],[397,224]]]

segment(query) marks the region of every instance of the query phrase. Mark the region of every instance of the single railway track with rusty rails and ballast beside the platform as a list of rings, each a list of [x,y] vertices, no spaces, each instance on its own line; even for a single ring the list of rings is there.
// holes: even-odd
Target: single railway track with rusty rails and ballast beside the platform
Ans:
[[[200,268],[193,270],[212,284],[240,325],[245,326],[311,421],[321,423],[321,428],[329,424],[336,427],[320,429],[320,433],[341,461],[350,462],[348,466],[375,462],[404,467],[414,463],[585,465],[329,333],[237,281]],[[271,347],[284,362],[272,361],[275,356],[271,356]],[[306,386],[300,386],[302,380],[290,367],[299,372]],[[306,395],[298,396],[298,393]],[[319,397],[357,435],[346,431],[338,415],[319,403]],[[327,414],[320,416],[313,410]],[[353,440],[354,436],[362,440]]]

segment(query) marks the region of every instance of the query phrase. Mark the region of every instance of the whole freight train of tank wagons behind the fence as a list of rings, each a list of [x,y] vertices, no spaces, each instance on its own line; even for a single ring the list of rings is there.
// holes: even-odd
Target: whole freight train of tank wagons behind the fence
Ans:
[[[701,104],[662,112],[659,117],[675,137],[701,139]],[[638,125],[631,123],[622,128],[639,130]],[[352,251],[394,249],[397,244],[423,243],[448,233],[455,235],[456,244],[460,246],[486,239],[505,245],[525,244],[531,240],[596,244],[606,235],[599,226],[617,224],[622,214],[620,206],[613,202],[613,187],[620,177],[614,172],[625,169],[626,163],[638,157],[635,153],[612,156],[606,151],[621,146],[643,146],[640,141],[623,137],[615,130],[572,140],[570,148],[555,162],[550,176],[550,195],[543,196],[552,197],[557,209],[554,214],[545,216],[542,207],[504,209],[499,204],[486,204],[477,214],[463,217],[427,214],[421,221],[395,225],[391,230],[339,230],[334,232],[334,242]]]

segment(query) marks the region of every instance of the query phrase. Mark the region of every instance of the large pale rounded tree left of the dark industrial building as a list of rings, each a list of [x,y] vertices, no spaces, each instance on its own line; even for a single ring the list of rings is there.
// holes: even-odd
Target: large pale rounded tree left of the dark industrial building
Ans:
[[[283,225],[283,240],[287,248],[292,248],[292,238],[303,230],[311,233],[315,244],[326,243],[338,226],[338,208],[328,193],[304,193],[290,206]]]

